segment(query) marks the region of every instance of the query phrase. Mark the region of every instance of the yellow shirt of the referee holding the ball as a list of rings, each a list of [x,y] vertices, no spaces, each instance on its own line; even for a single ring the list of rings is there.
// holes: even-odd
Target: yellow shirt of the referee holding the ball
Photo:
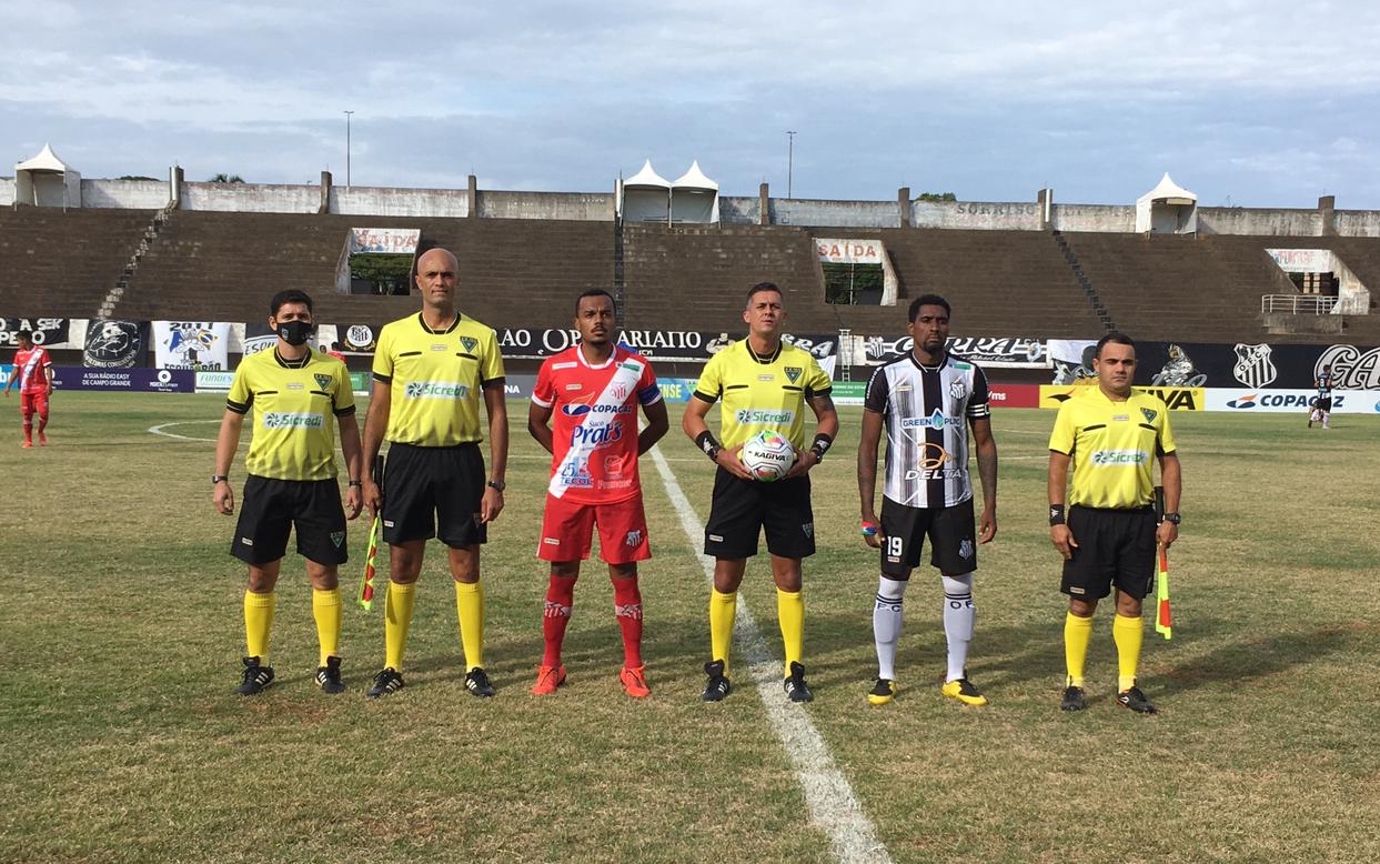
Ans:
[[[784,435],[796,450],[805,449],[806,400],[828,396],[829,377],[810,352],[781,342],[770,357],[758,357],[747,340],[738,340],[709,357],[694,395],[719,406],[719,438],[737,447],[763,429]]]

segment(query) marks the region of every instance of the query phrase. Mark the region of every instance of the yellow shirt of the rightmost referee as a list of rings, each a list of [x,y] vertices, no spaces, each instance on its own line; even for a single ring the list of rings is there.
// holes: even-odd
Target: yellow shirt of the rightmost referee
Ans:
[[[1068,502],[1132,509],[1154,501],[1154,461],[1176,450],[1169,409],[1132,391],[1112,402],[1101,388],[1074,391],[1058,407],[1049,449],[1072,457]]]

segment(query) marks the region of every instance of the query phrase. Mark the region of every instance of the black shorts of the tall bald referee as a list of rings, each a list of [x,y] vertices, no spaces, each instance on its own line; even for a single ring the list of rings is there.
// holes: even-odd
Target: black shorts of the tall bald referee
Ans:
[[[437,537],[457,549],[487,542],[489,529],[479,523],[484,483],[479,444],[389,446],[381,513],[384,541]]]

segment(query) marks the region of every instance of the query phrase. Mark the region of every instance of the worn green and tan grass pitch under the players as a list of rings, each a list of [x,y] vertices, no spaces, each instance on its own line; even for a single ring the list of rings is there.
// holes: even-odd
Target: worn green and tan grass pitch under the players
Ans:
[[[382,662],[381,605],[346,609],[349,690],[315,687],[309,588],[290,555],[273,632],[279,678],[241,698],[244,571],[208,483],[224,400],[59,393],[54,403],[47,449],[19,450],[17,403],[3,415],[0,860],[832,860],[747,669],[723,704],[698,701],[708,584],[698,541],[650,462],[650,700],[618,686],[598,562],[575,595],[569,685],[527,693],[541,656],[545,569],[534,549],[546,461],[523,433],[520,403],[508,509],[484,549],[497,698],[464,691],[454,592],[435,544],[406,690],[364,698]],[[1174,639],[1145,636],[1141,685],[1162,709],[1152,718],[1114,704],[1110,607],[1098,610],[1089,709],[1057,709],[1065,603],[1045,526],[1052,422],[1046,411],[994,418],[1000,530],[980,552],[970,662],[992,700],[981,709],[938,693],[941,592],[927,569],[907,593],[901,696],[865,703],[876,567],[856,529],[858,409],[843,411],[839,444],[811,473],[821,551],[806,563],[806,665],[817,698],[803,711],[886,854],[1373,860],[1377,421],[1337,415],[1322,431],[1301,414],[1174,415],[1184,526],[1170,553]],[[662,451],[702,519],[711,465],[675,425]],[[233,476],[239,491],[239,465]],[[366,530],[352,526],[351,596]],[[749,564],[742,593],[778,653],[765,560]]]

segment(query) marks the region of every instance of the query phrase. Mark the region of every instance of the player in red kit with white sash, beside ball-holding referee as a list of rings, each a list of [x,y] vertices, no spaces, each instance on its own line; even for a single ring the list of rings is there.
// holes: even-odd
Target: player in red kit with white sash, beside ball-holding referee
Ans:
[[[633,698],[651,694],[642,661],[638,588],[638,562],[651,558],[651,547],[638,457],[667,433],[669,421],[651,364],[614,344],[615,327],[614,302],[607,291],[581,294],[575,301],[580,344],[541,364],[531,395],[527,429],[552,454],[537,547],[537,558],[551,562],[542,616],[546,647],[531,689],[537,696],[555,693],[566,682],[560,647],[574,607],[580,562],[589,558],[595,526],[622,635],[624,668],[618,680]],[[640,433],[639,404],[647,415]]]

